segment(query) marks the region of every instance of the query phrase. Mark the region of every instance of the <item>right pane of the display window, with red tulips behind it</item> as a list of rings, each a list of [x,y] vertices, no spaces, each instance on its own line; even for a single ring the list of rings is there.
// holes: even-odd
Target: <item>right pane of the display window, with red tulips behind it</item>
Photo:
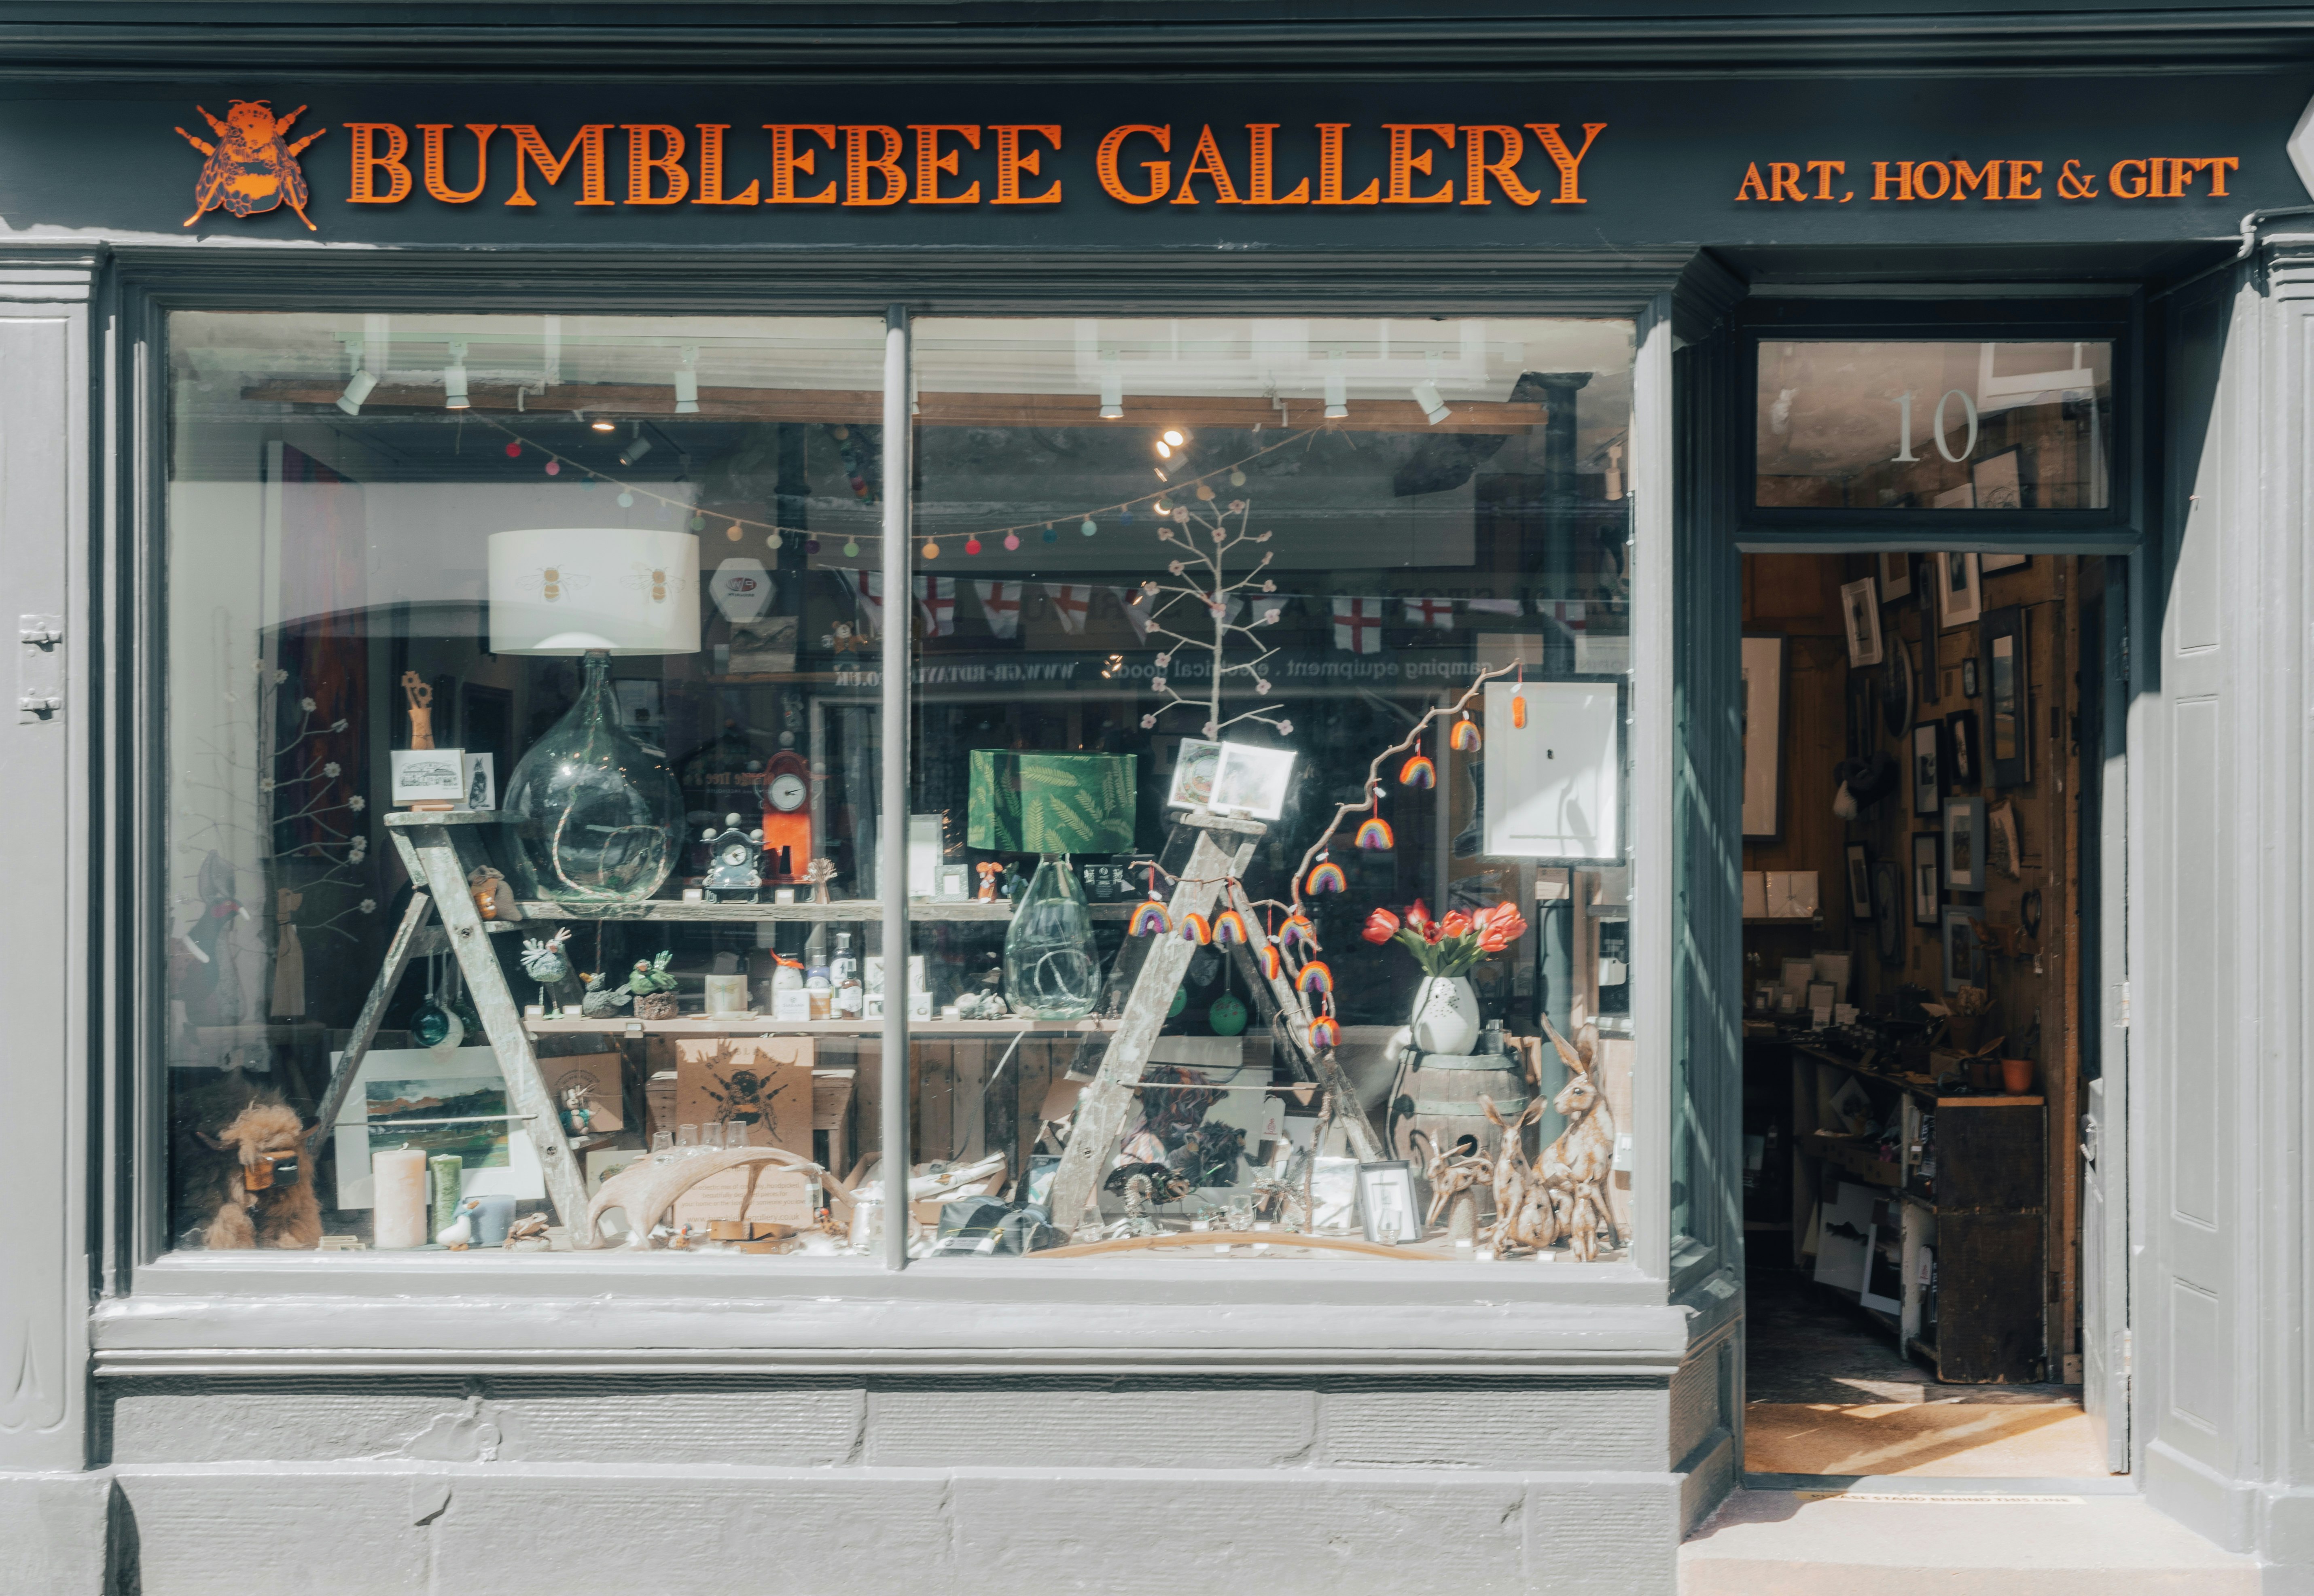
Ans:
[[[1629,1244],[1631,335],[916,326],[919,1249]]]

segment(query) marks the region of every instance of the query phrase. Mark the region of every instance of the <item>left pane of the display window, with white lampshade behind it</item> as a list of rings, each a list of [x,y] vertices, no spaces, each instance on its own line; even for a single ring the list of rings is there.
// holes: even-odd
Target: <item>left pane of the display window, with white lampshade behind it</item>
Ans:
[[[180,1244],[569,1247],[611,1177],[671,1207],[606,1240],[849,1244],[872,1022],[803,978],[875,948],[872,904],[810,900],[872,860],[877,726],[819,555],[879,525],[882,345],[171,317]],[[396,835],[442,860],[440,914],[382,978]]]

